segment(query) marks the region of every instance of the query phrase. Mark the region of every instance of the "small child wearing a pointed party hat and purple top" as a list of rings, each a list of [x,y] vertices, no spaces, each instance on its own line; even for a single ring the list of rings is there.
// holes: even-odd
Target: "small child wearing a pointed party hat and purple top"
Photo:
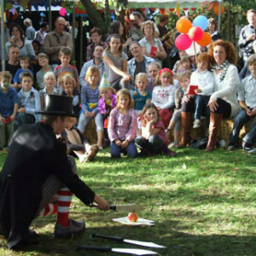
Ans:
[[[116,95],[113,87],[110,86],[106,73],[103,73],[102,81],[100,84],[100,100],[98,103],[99,112],[102,113],[104,123],[104,137],[105,143],[103,148],[110,145],[108,138],[108,117],[110,111],[116,106]]]

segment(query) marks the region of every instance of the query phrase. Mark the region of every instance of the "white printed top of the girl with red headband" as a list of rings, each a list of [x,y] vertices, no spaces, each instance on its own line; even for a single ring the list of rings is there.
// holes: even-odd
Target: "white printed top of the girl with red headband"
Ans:
[[[151,102],[154,103],[156,107],[162,109],[172,108],[175,104],[175,90],[176,88],[172,84],[169,84],[166,87],[161,87],[161,85],[154,86]]]

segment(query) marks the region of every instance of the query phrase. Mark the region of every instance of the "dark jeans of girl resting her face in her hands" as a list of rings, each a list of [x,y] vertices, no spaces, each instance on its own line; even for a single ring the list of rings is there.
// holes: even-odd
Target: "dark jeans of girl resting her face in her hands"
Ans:
[[[158,135],[151,135],[148,139],[142,136],[137,137],[135,143],[139,148],[151,153],[160,153],[161,148],[165,145],[164,141]]]

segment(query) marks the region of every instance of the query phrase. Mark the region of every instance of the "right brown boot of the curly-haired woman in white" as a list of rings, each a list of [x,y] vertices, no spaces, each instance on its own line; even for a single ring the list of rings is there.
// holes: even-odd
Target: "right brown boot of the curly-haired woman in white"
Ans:
[[[211,113],[209,125],[209,139],[206,152],[211,152],[216,147],[219,125],[222,119],[222,113]]]

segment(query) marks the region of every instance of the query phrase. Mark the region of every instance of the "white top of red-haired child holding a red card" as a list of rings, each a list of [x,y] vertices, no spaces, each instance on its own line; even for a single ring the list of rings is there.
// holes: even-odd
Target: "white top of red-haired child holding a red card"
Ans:
[[[211,96],[214,88],[213,73],[207,69],[200,73],[198,69],[196,69],[195,72],[191,74],[190,84],[198,85],[198,88],[202,91],[199,95]]]

